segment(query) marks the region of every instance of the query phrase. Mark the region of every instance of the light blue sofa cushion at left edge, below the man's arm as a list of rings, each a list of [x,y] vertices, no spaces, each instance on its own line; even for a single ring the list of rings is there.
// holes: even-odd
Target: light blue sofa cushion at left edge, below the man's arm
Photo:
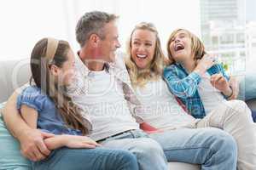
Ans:
[[[2,109],[3,104],[0,104],[0,112],[2,112]],[[0,150],[0,169],[32,169],[31,162],[21,156],[20,143],[9,133],[2,116],[0,116]]]

